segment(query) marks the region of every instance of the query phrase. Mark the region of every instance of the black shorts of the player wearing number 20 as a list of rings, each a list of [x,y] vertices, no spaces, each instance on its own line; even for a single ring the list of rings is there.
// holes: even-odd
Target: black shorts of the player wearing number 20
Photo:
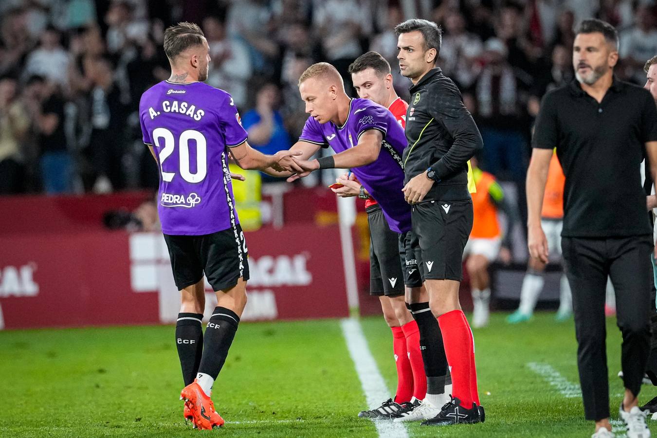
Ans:
[[[240,277],[249,278],[248,249],[239,224],[202,236],[164,234],[164,240],[178,290],[198,283],[204,273],[214,291],[232,288]]]

